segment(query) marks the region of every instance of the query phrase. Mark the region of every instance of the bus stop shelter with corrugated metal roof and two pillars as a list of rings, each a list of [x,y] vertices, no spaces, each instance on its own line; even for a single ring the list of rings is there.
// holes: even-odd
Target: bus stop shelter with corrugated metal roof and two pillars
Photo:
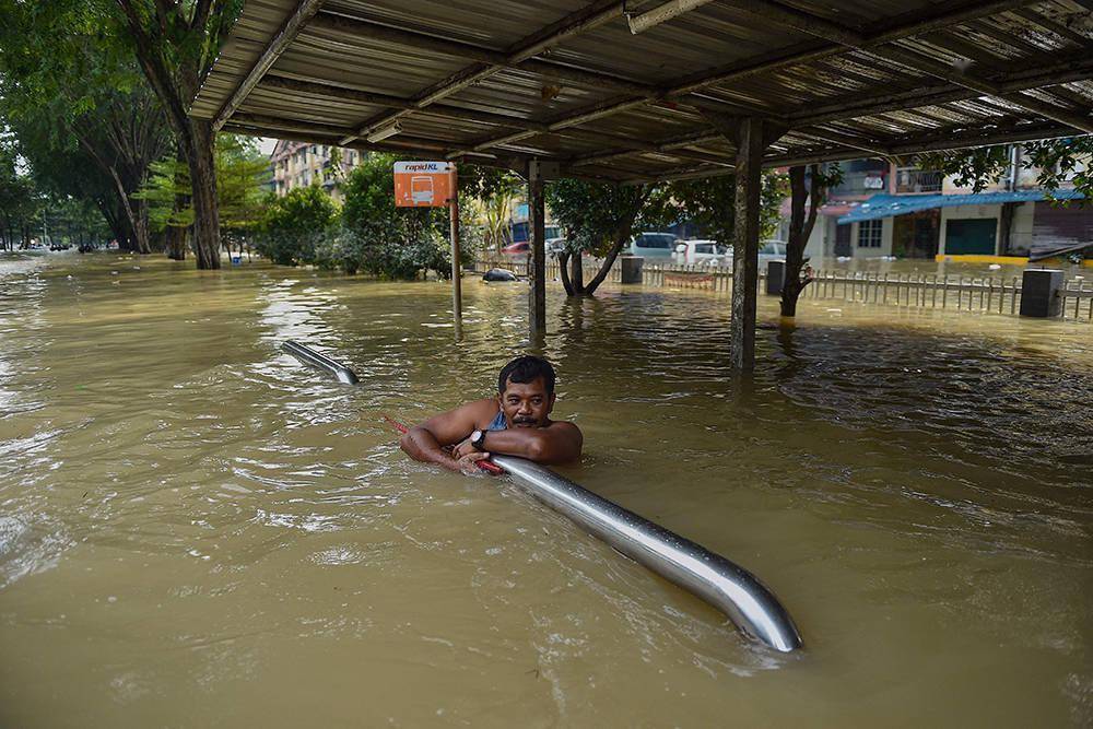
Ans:
[[[525,175],[532,341],[544,178],[734,174],[747,371],[763,167],[1093,133],[1091,79],[1093,0],[247,0],[190,115]]]

